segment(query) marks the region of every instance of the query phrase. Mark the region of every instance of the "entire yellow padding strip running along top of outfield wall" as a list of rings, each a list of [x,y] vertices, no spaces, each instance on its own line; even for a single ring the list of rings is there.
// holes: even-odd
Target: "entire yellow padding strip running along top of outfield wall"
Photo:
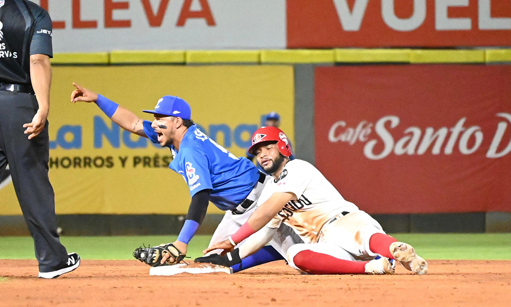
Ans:
[[[53,64],[147,63],[484,63],[511,62],[511,49],[168,50],[57,53]]]

